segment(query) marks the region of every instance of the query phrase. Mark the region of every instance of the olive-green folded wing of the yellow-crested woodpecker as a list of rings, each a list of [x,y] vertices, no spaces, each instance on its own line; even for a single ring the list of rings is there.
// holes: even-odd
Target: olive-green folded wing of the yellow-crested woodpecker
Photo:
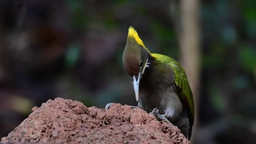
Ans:
[[[175,84],[178,88],[181,89],[181,92],[180,92],[181,94],[179,94],[179,98],[183,103],[185,102],[188,104],[188,108],[191,113],[191,119],[190,119],[191,125],[193,125],[194,115],[195,115],[194,100],[193,100],[193,94],[189,86],[188,78],[184,69],[181,67],[181,65],[177,61],[175,61],[170,57],[160,55],[158,53],[152,53],[152,56],[158,59],[159,61],[161,61],[162,63],[166,63],[169,67],[173,69],[173,73],[175,76],[175,80],[174,80]]]

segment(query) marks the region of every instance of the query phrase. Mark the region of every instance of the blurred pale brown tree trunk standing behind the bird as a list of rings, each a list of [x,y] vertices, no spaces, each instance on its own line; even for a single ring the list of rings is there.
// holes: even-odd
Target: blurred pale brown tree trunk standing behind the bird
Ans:
[[[172,1],[171,4],[173,4]],[[196,138],[197,131],[197,110],[199,109],[200,94],[200,24],[199,24],[199,0],[182,0],[180,20],[176,23],[179,46],[181,47],[181,64],[185,69],[195,103],[195,122],[191,136],[191,143]],[[177,5],[176,5],[177,6]],[[177,13],[174,5],[171,5],[171,13]],[[176,12],[175,12],[176,11]],[[172,13],[173,16],[173,13]],[[175,16],[178,17],[177,15]],[[177,22],[177,19],[176,21]]]

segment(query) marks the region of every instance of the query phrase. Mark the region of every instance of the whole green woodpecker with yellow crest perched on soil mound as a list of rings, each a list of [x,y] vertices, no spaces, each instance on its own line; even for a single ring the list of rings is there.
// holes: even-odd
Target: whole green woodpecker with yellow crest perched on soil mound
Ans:
[[[133,27],[127,35],[123,65],[138,101],[133,107],[176,125],[189,140],[194,124],[194,100],[181,65],[170,57],[150,53]]]

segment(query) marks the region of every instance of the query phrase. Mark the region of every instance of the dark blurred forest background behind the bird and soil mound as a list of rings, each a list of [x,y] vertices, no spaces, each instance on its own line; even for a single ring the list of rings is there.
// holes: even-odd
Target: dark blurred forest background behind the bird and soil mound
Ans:
[[[122,55],[135,27],[151,52],[182,62],[178,1],[0,1],[0,137],[56,97],[136,105]],[[170,10],[175,8],[174,12]],[[195,143],[256,141],[256,4],[200,1]],[[193,34],[192,34],[193,35]],[[187,53],[187,54],[186,54]],[[193,57],[193,55],[192,55]],[[191,59],[193,61],[193,59]],[[185,61],[182,63],[186,65]],[[185,67],[186,70],[186,67]],[[190,76],[193,73],[187,71]]]

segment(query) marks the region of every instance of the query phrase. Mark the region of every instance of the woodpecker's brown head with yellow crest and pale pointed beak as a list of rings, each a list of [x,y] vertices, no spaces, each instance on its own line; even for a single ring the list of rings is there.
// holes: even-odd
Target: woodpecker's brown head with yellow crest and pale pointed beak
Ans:
[[[135,97],[138,101],[139,81],[144,71],[149,67],[148,57],[150,52],[143,44],[141,38],[133,27],[129,28],[125,50],[123,53],[123,65],[130,75],[135,91]]]

